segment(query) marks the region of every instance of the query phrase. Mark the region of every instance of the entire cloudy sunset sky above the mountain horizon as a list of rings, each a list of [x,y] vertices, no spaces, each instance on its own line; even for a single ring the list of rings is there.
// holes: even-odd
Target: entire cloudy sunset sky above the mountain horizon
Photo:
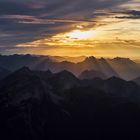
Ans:
[[[140,58],[140,0],[0,0],[0,54]]]

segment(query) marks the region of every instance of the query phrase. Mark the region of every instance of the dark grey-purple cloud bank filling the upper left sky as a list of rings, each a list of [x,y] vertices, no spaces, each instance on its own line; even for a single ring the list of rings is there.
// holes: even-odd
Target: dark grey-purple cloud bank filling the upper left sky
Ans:
[[[132,0],[0,0],[0,45],[15,47],[70,31],[77,23],[86,22],[84,27],[90,28],[109,10],[129,1]],[[98,23],[101,24],[105,23]]]

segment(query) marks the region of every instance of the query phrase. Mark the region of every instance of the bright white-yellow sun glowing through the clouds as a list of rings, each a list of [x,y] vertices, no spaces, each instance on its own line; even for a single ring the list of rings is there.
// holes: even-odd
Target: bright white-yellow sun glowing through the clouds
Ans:
[[[74,30],[67,34],[67,37],[72,39],[90,39],[93,38],[96,35],[96,31],[90,30],[90,31],[81,31],[81,30]]]

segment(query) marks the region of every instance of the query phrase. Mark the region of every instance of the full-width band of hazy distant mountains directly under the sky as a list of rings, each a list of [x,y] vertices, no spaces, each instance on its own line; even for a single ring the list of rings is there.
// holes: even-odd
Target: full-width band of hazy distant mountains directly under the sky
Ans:
[[[112,76],[120,77],[124,80],[133,80],[140,76],[140,65],[128,58],[114,58],[114,59],[97,59],[95,57],[81,57],[81,62],[75,59],[75,63],[67,61],[63,57],[51,56],[32,56],[32,55],[11,55],[0,56],[0,67],[15,71],[23,66],[29,67],[32,70],[50,70],[53,73],[67,70],[75,76],[91,75],[90,77],[110,78]],[[60,59],[60,60],[59,60]],[[71,58],[72,59],[72,58]],[[64,60],[64,61],[63,61]],[[89,71],[90,72],[89,74]],[[93,72],[94,71],[94,72]],[[96,71],[96,73],[95,73]],[[85,74],[87,72],[87,74]],[[98,74],[97,74],[98,73]],[[103,77],[102,77],[103,76]],[[85,78],[88,78],[87,76]],[[84,77],[82,77],[84,78]]]

